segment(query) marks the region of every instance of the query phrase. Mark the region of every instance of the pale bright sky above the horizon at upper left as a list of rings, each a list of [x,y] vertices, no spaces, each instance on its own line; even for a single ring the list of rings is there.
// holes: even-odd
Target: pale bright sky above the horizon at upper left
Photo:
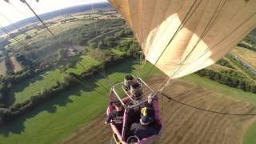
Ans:
[[[0,0],[0,25],[7,26],[10,22],[18,22],[24,18],[34,16],[29,8],[20,0],[9,0],[10,4]],[[107,2],[107,0],[26,0],[37,14],[44,14],[65,7],[78,6],[82,4]],[[10,20],[8,21],[6,17]]]

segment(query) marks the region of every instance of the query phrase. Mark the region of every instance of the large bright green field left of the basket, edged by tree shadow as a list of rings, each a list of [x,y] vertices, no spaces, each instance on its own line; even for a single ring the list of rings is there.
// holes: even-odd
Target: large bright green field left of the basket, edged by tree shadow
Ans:
[[[144,66],[149,70],[150,66]],[[122,81],[126,74],[136,74],[138,64],[127,60],[106,71],[111,82]],[[157,70],[154,73],[160,73]],[[0,130],[3,143],[56,143],[73,134],[78,127],[98,118],[106,109],[109,86],[102,77],[88,79],[92,87],[76,86],[50,102],[36,107]],[[106,90],[100,85],[108,87]]]

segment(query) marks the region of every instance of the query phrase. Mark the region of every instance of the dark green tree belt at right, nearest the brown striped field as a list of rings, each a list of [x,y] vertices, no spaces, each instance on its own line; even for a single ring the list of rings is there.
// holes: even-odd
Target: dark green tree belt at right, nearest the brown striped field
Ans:
[[[227,86],[235,87],[245,91],[250,91],[256,94],[256,85],[254,82],[247,80],[246,76],[238,73],[236,70],[224,70],[224,71],[214,71],[202,69],[198,70],[195,74],[201,77],[210,78],[216,82],[225,84]]]

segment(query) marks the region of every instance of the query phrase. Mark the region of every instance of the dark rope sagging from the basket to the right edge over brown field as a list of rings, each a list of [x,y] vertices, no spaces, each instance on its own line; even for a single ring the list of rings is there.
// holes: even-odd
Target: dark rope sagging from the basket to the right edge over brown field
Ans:
[[[187,106],[187,107],[190,107],[190,108],[193,108],[193,109],[196,109],[196,110],[200,110],[200,111],[205,111],[207,113],[211,113],[211,114],[223,114],[223,115],[231,115],[231,116],[256,116],[256,114],[234,114],[234,113],[224,113],[224,112],[221,112],[221,111],[214,111],[214,110],[206,110],[206,109],[202,109],[202,108],[199,108],[197,106],[191,106],[189,104],[186,104],[184,102],[180,102],[172,97],[170,97],[169,95],[161,92],[160,94],[162,94],[162,96],[170,99],[171,101],[173,102],[176,102],[182,106]]]

